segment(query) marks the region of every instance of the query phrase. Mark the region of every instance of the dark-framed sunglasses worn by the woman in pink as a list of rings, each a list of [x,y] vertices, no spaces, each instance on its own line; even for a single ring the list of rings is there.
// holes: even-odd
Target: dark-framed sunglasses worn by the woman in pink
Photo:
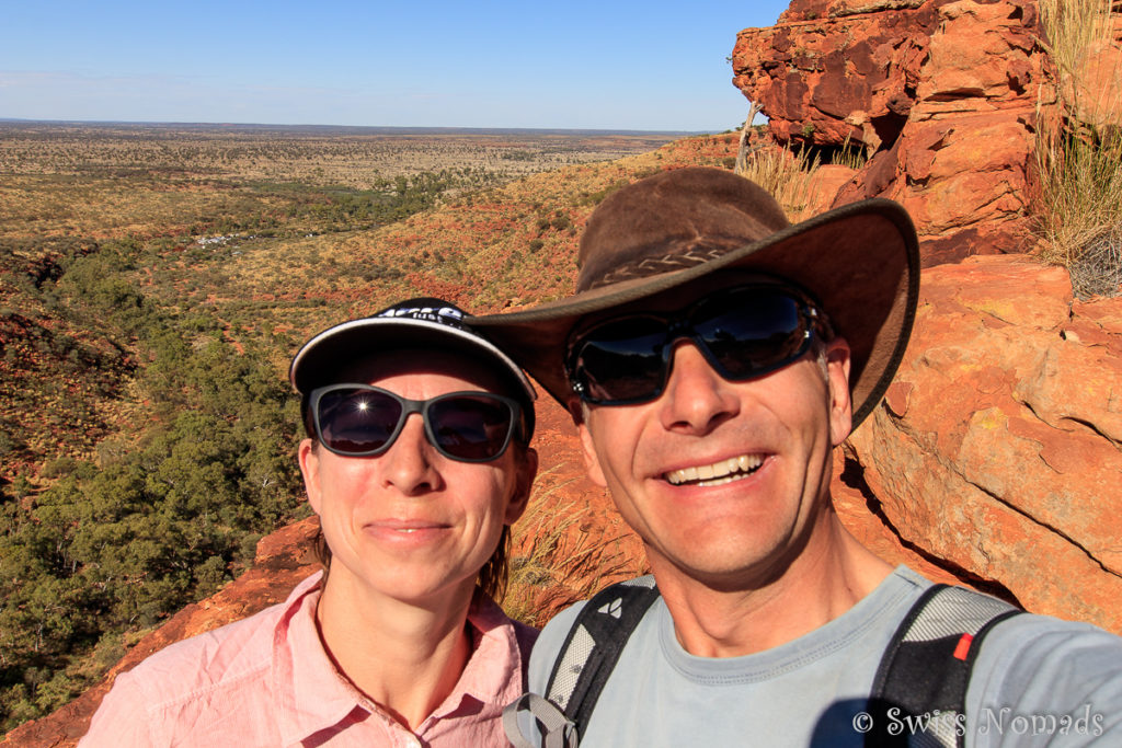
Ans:
[[[516,400],[494,393],[448,393],[411,400],[371,385],[313,389],[309,408],[315,434],[343,456],[381,454],[411,413],[420,413],[425,436],[438,452],[460,462],[489,462],[506,451],[518,421]]]

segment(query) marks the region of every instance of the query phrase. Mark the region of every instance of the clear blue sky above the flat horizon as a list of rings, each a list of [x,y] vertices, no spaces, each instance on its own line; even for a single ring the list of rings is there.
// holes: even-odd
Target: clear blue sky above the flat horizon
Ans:
[[[0,118],[720,131],[787,4],[0,0]]]

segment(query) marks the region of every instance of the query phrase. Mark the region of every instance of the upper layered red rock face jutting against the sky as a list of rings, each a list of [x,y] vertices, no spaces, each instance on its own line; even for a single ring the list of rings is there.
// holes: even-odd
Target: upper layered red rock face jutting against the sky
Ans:
[[[794,0],[745,29],[734,83],[780,142],[859,146],[835,204],[901,202],[925,266],[1024,251],[1038,101],[1054,99],[1029,0]]]

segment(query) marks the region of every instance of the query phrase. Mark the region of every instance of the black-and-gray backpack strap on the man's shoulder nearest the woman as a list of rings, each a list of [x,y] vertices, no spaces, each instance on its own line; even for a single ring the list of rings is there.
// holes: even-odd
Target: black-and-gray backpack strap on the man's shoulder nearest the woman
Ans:
[[[545,699],[525,694],[504,711],[507,737],[515,746],[530,745],[513,736],[523,710],[536,720],[542,745],[577,745],[632,631],[657,598],[654,578],[647,575],[606,587],[585,603],[553,661]]]

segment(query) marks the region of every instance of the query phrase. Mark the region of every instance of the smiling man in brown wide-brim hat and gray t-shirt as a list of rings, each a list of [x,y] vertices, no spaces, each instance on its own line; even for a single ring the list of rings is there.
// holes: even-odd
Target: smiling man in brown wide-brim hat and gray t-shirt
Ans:
[[[790,225],[746,179],[666,172],[604,201],[579,262],[573,297],[473,324],[569,407],[661,595],[636,615],[629,585],[551,621],[524,731],[585,746],[1122,745],[1122,639],[955,588],[911,613],[930,583],[834,511],[831,452],[876,407],[916,312],[899,205]]]

